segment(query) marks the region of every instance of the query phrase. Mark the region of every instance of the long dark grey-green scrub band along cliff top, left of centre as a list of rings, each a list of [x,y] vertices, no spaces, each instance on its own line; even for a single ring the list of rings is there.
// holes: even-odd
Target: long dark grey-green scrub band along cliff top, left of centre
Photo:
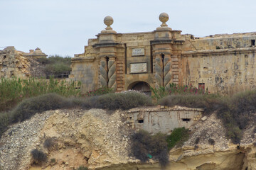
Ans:
[[[129,92],[126,94],[105,94],[87,98],[65,98],[58,94],[44,94],[27,98],[13,110],[0,113],[0,136],[11,123],[31,118],[36,113],[60,108],[102,108],[107,110],[127,110],[139,106],[152,106],[151,98],[144,94]]]

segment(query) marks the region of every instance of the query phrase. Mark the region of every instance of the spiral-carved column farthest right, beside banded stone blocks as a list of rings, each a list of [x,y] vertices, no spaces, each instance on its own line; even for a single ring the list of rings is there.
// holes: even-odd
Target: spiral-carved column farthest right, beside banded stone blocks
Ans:
[[[171,83],[171,55],[164,55],[164,87]]]

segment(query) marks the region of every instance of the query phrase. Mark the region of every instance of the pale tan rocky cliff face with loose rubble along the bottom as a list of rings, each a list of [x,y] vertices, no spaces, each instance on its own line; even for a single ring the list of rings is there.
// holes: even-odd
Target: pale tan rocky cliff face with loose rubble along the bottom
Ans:
[[[123,111],[100,109],[47,111],[12,125],[0,140],[2,169],[161,169],[157,162],[141,164],[129,157],[129,135]],[[225,138],[223,125],[210,115],[191,127],[190,139],[170,152],[165,169],[256,169],[255,125],[245,130],[240,145]],[[52,141],[46,147],[47,141]],[[45,152],[36,164],[31,150]]]

